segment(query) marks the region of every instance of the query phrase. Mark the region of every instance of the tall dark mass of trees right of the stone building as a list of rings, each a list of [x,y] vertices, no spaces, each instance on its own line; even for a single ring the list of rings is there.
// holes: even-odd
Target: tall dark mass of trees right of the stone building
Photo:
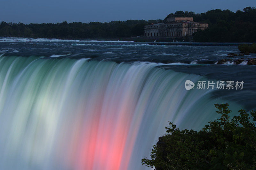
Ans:
[[[209,23],[209,28],[194,35],[196,42],[255,42],[256,9],[243,11],[211,10],[196,19]]]

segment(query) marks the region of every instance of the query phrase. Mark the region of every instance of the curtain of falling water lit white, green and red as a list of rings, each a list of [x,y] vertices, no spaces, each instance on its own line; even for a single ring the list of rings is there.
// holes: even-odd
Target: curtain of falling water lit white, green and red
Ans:
[[[198,130],[228,102],[158,66],[0,56],[0,169],[148,169],[168,121]]]

